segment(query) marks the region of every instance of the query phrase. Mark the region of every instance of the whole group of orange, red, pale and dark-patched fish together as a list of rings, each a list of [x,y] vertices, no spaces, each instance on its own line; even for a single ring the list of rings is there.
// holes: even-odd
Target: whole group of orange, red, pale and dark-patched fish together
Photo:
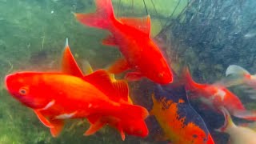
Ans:
[[[85,136],[108,125],[118,130],[122,140],[126,134],[146,138],[150,130],[145,120],[152,115],[150,118],[155,118],[162,129],[162,140],[173,144],[214,144],[206,122],[190,105],[190,101],[198,100],[203,109],[223,114],[225,122],[216,131],[229,134],[231,144],[256,143],[256,110],[247,110],[240,98],[228,89],[230,86],[246,86],[245,91],[254,100],[256,75],[241,66],[230,65],[225,80],[201,84],[194,82],[189,68],[185,67],[178,82],[174,81],[170,62],[150,38],[149,15],[145,18],[116,18],[111,0],[95,0],[95,5],[94,13],[74,13],[74,17],[85,26],[108,30],[110,35],[102,44],[116,47],[122,58],[107,70],[94,71],[88,65],[84,74],[66,39],[61,70],[18,71],[5,78],[10,95],[33,110],[53,137],[61,134],[66,119],[75,118],[90,123]],[[127,70],[124,79],[114,78],[114,74]],[[150,112],[130,98],[127,81],[142,78],[154,83]],[[237,126],[231,115],[250,122]]]

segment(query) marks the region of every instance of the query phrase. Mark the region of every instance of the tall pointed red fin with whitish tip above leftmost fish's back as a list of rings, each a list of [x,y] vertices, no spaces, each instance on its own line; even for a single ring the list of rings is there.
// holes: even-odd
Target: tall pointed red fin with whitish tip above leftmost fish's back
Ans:
[[[62,72],[65,74],[74,75],[79,78],[83,77],[82,71],[80,70],[77,62],[75,62],[74,56],[70,51],[70,46],[68,44],[67,38],[66,47],[62,56]]]

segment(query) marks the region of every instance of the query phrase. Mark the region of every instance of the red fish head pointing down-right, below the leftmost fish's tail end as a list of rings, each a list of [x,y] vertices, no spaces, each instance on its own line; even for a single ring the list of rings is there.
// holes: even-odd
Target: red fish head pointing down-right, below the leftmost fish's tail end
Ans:
[[[125,126],[123,126],[123,130],[126,132],[126,134],[131,134],[142,138],[149,134],[146,123],[142,119],[126,121],[124,123]]]

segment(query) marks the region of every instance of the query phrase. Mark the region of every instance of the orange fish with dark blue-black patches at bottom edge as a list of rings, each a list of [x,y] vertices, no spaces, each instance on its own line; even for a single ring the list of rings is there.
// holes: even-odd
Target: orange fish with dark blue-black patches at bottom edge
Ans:
[[[184,86],[156,86],[153,114],[173,144],[214,144],[201,116],[190,106]]]

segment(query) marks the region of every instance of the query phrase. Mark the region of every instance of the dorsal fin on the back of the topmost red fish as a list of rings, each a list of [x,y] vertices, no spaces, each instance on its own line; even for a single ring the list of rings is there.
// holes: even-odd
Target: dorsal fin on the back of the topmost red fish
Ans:
[[[141,30],[145,34],[150,35],[150,15],[147,15],[144,18],[118,18],[120,22],[128,26],[133,26],[134,28]]]

